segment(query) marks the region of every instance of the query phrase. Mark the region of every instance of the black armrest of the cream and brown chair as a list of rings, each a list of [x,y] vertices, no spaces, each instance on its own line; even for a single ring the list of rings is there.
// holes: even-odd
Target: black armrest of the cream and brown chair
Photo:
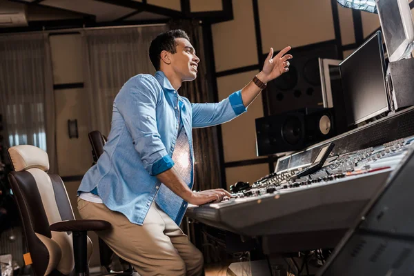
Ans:
[[[75,219],[59,221],[49,226],[49,230],[57,232],[101,231],[111,227],[108,221],[100,219]]]

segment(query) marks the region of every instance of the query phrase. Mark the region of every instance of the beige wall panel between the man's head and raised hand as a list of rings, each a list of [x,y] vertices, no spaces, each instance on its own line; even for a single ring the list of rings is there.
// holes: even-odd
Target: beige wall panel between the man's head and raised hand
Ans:
[[[216,72],[259,62],[252,0],[233,1],[233,14],[234,20],[212,26]]]

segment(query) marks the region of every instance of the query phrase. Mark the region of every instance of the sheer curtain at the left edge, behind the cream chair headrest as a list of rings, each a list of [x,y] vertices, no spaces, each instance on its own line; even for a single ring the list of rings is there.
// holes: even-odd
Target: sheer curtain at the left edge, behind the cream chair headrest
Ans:
[[[0,37],[0,114],[7,146],[46,150],[57,172],[55,98],[47,34]]]

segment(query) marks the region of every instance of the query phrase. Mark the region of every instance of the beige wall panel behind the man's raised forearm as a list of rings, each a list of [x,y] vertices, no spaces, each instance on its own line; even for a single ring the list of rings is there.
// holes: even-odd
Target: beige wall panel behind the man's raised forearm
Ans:
[[[258,71],[244,72],[217,79],[219,100],[242,89]],[[262,96],[259,95],[248,107],[248,112],[221,126],[224,161],[254,159],[256,156],[255,119],[263,117]]]

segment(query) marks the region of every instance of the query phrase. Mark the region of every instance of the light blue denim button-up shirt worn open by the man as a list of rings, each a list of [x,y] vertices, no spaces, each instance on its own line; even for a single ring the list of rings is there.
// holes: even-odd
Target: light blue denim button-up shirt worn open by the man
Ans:
[[[174,166],[171,157],[179,120],[188,137],[193,174],[192,128],[222,124],[245,111],[241,91],[219,103],[190,103],[178,95],[161,71],[155,77],[144,74],[132,77],[115,97],[108,141],[97,164],[84,175],[78,193],[90,193],[96,188],[110,210],[142,225],[161,186],[155,176]],[[180,224],[187,204],[182,204],[177,213],[176,208],[170,208],[174,203],[157,201]]]

